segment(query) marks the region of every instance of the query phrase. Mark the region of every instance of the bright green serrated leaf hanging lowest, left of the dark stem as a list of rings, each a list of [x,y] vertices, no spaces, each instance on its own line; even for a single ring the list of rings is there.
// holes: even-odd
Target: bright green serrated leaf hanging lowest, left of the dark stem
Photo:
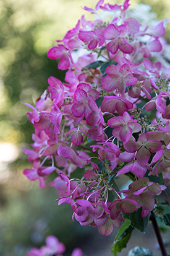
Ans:
[[[128,223],[126,223],[126,225],[128,226]],[[123,226],[123,225],[122,225],[122,226]],[[121,226],[121,227],[122,227],[122,226]],[[129,241],[130,236],[131,236],[133,230],[134,230],[134,228],[133,228],[132,226],[129,226],[129,227],[125,230],[125,232],[122,234],[122,236],[120,236],[117,241],[116,241],[116,240],[114,241],[113,247],[112,247],[112,249],[111,249],[111,254],[114,254],[114,256],[117,256],[117,254],[118,254],[119,252],[121,252],[121,250],[122,250],[123,248],[126,247],[126,244],[127,244],[127,242]],[[118,234],[119,234],[119,232],[118,232]],[[117,234],[117,236],[118,236],[118,234]],[[117,236],[116,236],[116,237],[117,237]]]

